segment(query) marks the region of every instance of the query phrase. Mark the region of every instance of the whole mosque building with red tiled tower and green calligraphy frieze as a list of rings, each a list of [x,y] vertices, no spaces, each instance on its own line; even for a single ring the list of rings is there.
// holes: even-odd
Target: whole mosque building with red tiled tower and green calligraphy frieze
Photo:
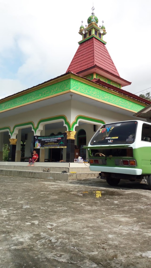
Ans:
[[[37,146],[39,162],[73,163],[75,152],[86,159],[83,147],[102,124],[137,119],[134,114],[151,103],[123,89],[131,82],[120,77],[94,8],[79,34],[82,40],[64,74],[0,100],[1,161],[3,144],[9,146],[9,162],[27,165],[34,136],[62,133],[66,146]]]

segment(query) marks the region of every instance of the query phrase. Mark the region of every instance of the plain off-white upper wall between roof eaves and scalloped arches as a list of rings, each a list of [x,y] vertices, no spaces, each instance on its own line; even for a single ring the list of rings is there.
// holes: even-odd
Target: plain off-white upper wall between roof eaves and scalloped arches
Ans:
[[[38,106],[38,103],[37,103]],[[106,108],[109,106],[106,105]],[[116,109],[116,108],[115,108]],[[25,123],[28,121],[33,121],[35,126],[38,121],[44,118],[54,117],[57,115],[64,115],[67,117],[67,120],[72,123],[75,121],[76,116],[83,115],[92,118],[97,118],[105,121],[106,123],[113,121],[122,121],[122,120],[132,120],[133,116],[124,116],[119,113],[119,108],[117,108],[118,112],[109,111],[108,109],[102,109],[101,103],[100,107],[95,107],[93,105],[89,105],[87,103],[82,103],[76,100],[69,100],[61,103],[57,103],[51,106],[45,106],[39,109],[35,109],[32,111],[27,111],[25,113],[20,113],[14,116],[10,116],[6,118],[2,118],[0,120],[0,126],[10,126],[13,129],[14,125]],[[32,114],[32,116],[31,116]],[[133,113],[132,113],[133,115]]]

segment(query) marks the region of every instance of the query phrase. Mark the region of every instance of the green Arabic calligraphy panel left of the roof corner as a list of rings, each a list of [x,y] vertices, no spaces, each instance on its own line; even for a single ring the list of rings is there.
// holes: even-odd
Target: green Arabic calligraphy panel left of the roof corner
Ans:
[[[29,102],[34,102],[39,99],[43,99],[43,98],[46,98],[55,94],[59,94],[69,89],[70,89],[70,79],[57,82],[47,87],[43,87],[38,90],[24,94],[22,96],[16,97],[9,101],[0,103],[0,111],[8,110],[16,106],[21,106]]]

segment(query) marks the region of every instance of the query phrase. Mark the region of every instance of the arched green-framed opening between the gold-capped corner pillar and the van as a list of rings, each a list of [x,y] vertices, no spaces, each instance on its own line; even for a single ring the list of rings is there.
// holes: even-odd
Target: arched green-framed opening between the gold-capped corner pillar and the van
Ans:
[[[79,148],[80,157],[86,159],[86,149],[83,149],[86,146],[86,132],[84,129],[80,129],[77,135],[77,143]]]

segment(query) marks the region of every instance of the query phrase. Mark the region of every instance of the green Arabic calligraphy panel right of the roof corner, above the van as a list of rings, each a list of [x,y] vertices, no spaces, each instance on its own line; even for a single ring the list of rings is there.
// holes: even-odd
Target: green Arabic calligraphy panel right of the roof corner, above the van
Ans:
[[[71,89],[82,93],[83,95],[87,95],[116,106],[121,106],[134,112],[138,112],[145,107],[141,104],[133,102],[132,99],[128,100],[122,98],[121,96],[114,95],[112,92],[107,92],[99,88],[94,88],[91,85],[84,84],[74,79],[71,79]]]

